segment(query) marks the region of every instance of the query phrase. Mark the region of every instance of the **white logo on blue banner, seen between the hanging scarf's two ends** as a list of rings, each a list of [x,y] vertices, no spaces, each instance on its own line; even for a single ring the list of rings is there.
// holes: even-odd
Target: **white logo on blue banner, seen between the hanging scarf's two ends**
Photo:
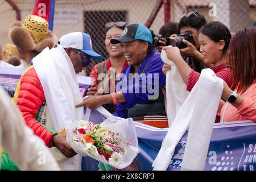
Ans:
[[[185,141],[181,141],[177,144],[175,151],[174,151],[174,157],[172,158],[171,163],[168,166],[168,168],[171,168],[172,170],[181,168],[181,162],[182,162],[183,155],[185,152],[185,146],[186,146]]]

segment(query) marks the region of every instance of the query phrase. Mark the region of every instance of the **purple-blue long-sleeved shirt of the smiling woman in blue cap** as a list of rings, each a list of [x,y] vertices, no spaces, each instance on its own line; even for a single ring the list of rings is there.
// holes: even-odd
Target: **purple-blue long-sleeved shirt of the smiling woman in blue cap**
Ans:
[[[117,84],[117,92],[122,91],[126,102],[117,104],[113,115],[127,118],[128,109],[135,104],[158,98],[158,94],[161,92],[160,89],[166,82],[162,67],[163,61],[156,49],[148,53],[142,61],[137,72],[138,75],[135,74],[135,78],[131,77],[133,74],[129,74],[133,73],[133,67],[126,67]]]

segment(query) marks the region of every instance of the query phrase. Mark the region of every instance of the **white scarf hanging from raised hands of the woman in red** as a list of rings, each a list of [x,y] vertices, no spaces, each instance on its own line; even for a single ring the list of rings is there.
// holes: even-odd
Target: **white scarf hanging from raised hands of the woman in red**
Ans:
[[[168,126],[171,127],[181,105],[188,97],[187,85],[182,80],[174,62],[168,59],[166,51],[162,50],[161,59],[171,65],[171,71],[166,73],[166,105]]]

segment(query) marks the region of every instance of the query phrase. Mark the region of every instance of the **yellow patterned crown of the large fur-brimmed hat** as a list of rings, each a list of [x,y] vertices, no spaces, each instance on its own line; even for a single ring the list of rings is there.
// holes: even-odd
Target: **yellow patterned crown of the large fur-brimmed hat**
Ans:
[[[40,16],[28,15],[21,27],[30,32],[36,44],[47,38],[48,22]]]

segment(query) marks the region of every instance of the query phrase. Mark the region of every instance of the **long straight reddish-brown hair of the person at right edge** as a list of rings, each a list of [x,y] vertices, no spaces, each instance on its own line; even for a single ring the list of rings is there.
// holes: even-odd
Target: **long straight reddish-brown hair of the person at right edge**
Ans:
[[[245,92],[256,79],[256,29],[243,28],[230,40],[229,64],[233,85],[238,93]]]

